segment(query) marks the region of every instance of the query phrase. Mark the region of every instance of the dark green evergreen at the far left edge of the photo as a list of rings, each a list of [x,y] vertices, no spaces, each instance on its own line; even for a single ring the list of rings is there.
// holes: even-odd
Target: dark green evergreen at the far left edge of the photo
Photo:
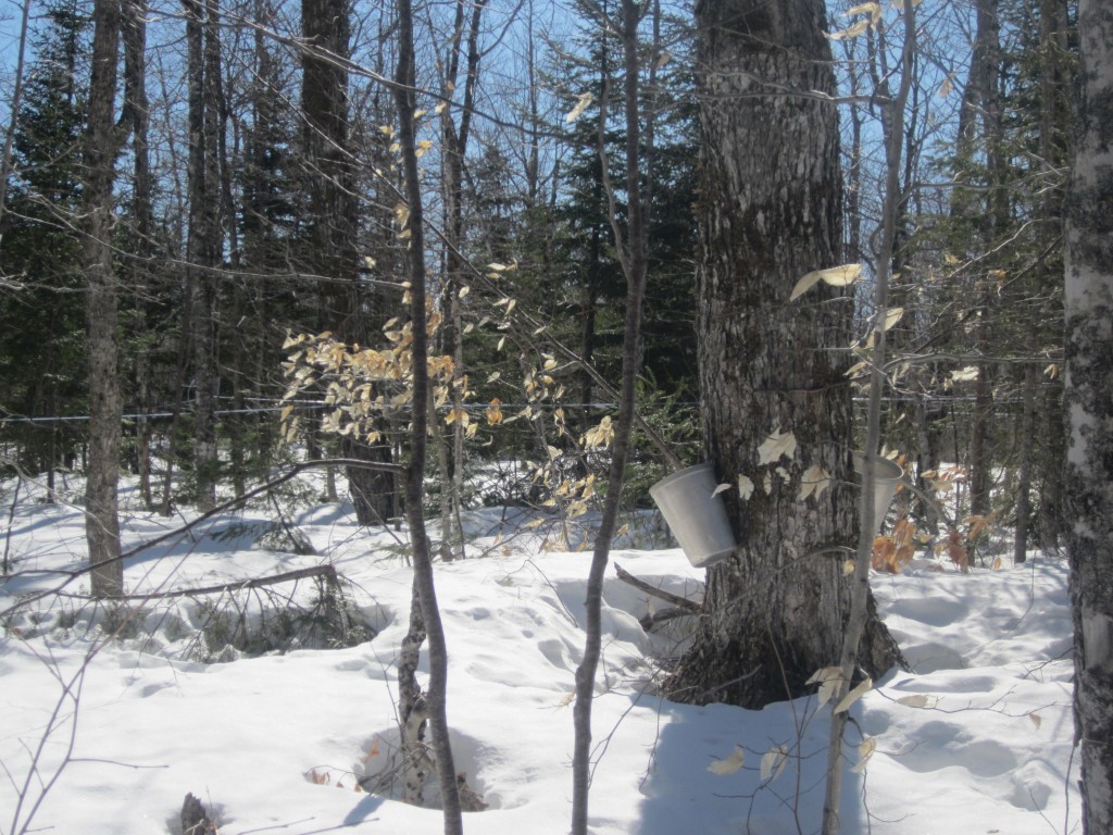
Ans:
[[[13,138],[12,180],[0,229],[0,268],[22,289],[0,297],[0,416],[19,463],[35,472],[73,463],[86,413],[81,245],[81,134],[88,79],[87,21],[56,0],[36,39]],[[40,422],[41,421],[41,422]]]

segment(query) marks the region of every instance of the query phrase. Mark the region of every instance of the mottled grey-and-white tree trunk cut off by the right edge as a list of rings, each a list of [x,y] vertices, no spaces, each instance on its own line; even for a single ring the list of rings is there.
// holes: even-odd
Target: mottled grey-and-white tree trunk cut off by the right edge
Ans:
[[[1078,3],[1082,63],[1066,203],[1066,495],[1083,833],[1113,832],[1113,9]]]

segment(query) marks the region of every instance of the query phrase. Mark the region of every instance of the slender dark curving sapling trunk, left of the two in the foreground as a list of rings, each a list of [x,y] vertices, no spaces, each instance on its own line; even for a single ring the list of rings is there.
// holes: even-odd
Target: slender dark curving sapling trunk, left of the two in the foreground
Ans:
[[[449,650],[436,602],[433,581],[433,559],[422,500],[425,493],[425,453],[429,432],[429,338],[426,335],[425,235],[421,183],[414,138],[416,109],[413,8],[410,0],[398,0],[398,65],[394,77],[394,98],[398,115],[398,145],[405,177],[406,206],[410,209],[410,316],[413,324],[413,422],[410,430],[410,472],[406,478],[406,519],[413,548],[414,583],[421,600],[422,618],[429,640],[429,723],[433,735],[436,773],[441,782],[441,799],[445,835],[463,832],[456,770],[449,741],[446,713]]]

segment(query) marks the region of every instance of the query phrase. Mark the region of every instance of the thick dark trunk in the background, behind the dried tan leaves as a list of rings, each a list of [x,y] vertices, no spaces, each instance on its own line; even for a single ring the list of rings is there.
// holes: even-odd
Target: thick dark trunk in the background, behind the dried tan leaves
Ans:
[[[322,326],[345,342],[370,337],[365,298],[358,287],[356,248],[358,203],[348,129],[351,20],[346,0],[303,0],[302,110],[304,159],[309,197],[309,271],[325,276],[319,288]],[[390,446],[368,446],[345,438],[346,458],[388,463]],[[384,524],[393,511],[394,477],[381,470],[347,468],[359,524]]]

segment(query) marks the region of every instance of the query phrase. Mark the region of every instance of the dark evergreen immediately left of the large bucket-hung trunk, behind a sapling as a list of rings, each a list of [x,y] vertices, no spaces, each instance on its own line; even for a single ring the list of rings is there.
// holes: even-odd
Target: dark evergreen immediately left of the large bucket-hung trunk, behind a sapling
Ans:
[[[593,102],[599,102],[605,95],[609,119],[602,139],[610,170],[604,176],[599,154],[599,109],[592,106],[568,130],[565,141],[570,150],[552,218],[553,266],[545,285],[544,313],[554,320],[554,327],[565,334],[568,344],[577,346],[587,363],[608,379],[614,379],[626,296],[612,228],[612,219],[620,230],[627,227],[627,189],[621,169],[626,129],[619,119],[623,107],[623,70],[618,39],[589,10],[584,14],[588,20],[581,38],[584,55],[561,62],[554,85],[570,94],[568,109],[575,97],[590,95]],[[677,46],[684,42],[683,24],[663,18],[660,29],[663,35],[658,32],[657,40],[670,42],[673,50],[663,62],[656,55],[663,49],[659,42],[643,42],[639,47],[647,67],[639,96],[640,164],[643,181],[652,184],[647,194],[649,274],[639,352],[649,377],[662,392],[695,396],[696,222],[691,206],[696,159],[691,149],[697,141],[697,114],[695,100],[688,94],[692,82],[690,56]],[[552,293],[553,286],[560,292]],[[579,374],[575,393],[582,404],[598,400],[587,373]],[[583,423],[590,422],[585,413]]]

